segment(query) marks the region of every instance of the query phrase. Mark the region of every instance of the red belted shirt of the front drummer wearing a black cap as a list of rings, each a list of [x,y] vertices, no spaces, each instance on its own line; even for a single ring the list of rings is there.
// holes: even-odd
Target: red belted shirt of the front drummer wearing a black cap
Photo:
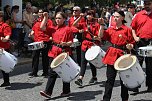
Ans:
[[[122,37],[120,37],[120,35]],[[135,42],[131,33],[131,29],[125,25],[122,25],[118,29],[114,27],[108,28],[104,31],[103,39],[117,46],[124,47],[126,47],[127,43],[133,44]],[[123,54],[123,50],[114,47],[109,47],[102,61],[105,64],[113,65],[116,59],[122,56]]]

